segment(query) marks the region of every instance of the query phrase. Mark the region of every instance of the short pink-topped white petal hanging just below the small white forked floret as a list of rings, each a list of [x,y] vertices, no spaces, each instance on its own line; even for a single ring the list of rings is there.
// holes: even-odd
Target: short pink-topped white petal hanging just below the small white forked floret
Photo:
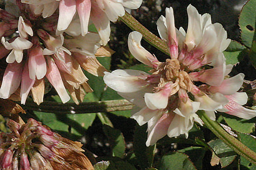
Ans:
[[[32,80],[42,79],[46,75],[47,67],[41,47],[36,46],[28,52],[29,77]]]

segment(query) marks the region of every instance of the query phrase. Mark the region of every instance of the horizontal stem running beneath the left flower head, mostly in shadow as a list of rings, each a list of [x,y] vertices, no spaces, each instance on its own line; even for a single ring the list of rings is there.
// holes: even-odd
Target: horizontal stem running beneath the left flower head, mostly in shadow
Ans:
[[[57,113],[57,114],[78,114],[78,113],[98,113],[98,112],[112,112],[121,110],[131,110],[133,104],[127,100],[110,100],[100,102],[82,102],[76,105],[74,102],[60,103],[45,101],[39,106],[32,100],[27,100],[24,109]]]

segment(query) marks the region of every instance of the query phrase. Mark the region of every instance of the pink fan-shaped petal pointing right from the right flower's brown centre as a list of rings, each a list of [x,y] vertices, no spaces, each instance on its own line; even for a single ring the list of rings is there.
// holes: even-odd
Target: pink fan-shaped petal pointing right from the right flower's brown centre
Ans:
[[[224,73],[225,73],[226,65],[223,63],[222,65],[206,69],[199,72],[190,73],[189,76],[192,78],[193,81],[200,81],[206,82],[211,86],[220,86],[220,84],[224,80]]]

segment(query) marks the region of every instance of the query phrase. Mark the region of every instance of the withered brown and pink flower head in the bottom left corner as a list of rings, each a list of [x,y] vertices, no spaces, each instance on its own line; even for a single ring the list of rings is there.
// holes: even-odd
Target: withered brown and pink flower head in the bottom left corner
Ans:
[[[82,144],[52,132],[34,119],[7,122],[0,132],[0,167],[4,170],[92,170]]]

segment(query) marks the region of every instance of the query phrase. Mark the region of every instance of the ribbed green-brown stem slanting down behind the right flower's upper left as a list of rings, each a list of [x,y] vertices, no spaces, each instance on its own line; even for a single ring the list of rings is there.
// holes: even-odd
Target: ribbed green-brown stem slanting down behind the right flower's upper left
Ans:
[[[167,43],[155,34],[151,33],[146,27],[138,22],[131,14],[125,13],[124,16],[120,17],[121,21],[125,23],[132,30],[138,31],[143,35],[143,38],[149,42],[152,46],[159,49],[163,53],[169,54]]]

